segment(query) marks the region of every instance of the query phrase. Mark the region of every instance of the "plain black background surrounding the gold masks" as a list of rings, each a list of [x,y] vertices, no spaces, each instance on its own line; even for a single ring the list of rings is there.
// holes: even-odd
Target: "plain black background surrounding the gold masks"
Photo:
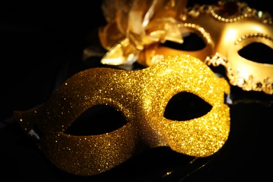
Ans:
[[[192,0],[188,6],[214,2]],[[270,1],[245,2],[272,13]],[[193,165],[169,148],[153,148],[111,172],[81,177],[60,171],[43,157],[14,122],[13,111],[43,104],[66,78],[87,69],[83,49],[97,44],[96,29],[105,25],[100,5],[101,1],[0,3],[1,181],[272,180],[272,96],[237,87],[232,87],[238,102],[230,106],[230,138],[216,155]],[[164,176],[169,171],[173,173]]]

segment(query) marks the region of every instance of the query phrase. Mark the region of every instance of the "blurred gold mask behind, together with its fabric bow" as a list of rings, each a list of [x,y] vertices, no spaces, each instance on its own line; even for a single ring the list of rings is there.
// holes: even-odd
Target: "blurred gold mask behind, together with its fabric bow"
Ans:
[[[109,8],[113,6],[106,6],[107,1],[103,4],[108,22],[99,31],[100,42],[108,50],[103,64],[138,62],[151,66],[168,55],[192,55],[208,65],[224,66],[231,85],[273,94],[272,53],[268,54],[273,49],[273,26],[269,13],[234,0],[188,8],[188,1],[121,2],[127,6],[116,3]],[[204,47],[183,50],[194,47],[194,41],[185,41],[190,34],[202,38]],[[269,51],[262,59],[246,57],[242,52],[249,45]],[[85,57],[87,52],[85,49]]]

